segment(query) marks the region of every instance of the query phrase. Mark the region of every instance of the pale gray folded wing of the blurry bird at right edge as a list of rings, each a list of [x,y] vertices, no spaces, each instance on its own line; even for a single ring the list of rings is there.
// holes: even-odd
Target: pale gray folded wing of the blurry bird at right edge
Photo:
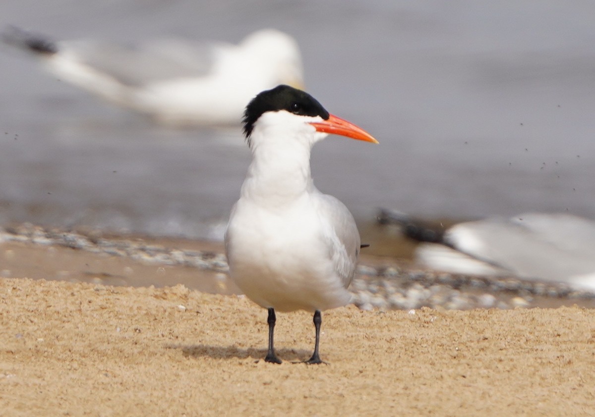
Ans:
[[[595,223],[568,214],[459,223],[445,238],[459,251],[518,276],[566,280],[595,272]]]

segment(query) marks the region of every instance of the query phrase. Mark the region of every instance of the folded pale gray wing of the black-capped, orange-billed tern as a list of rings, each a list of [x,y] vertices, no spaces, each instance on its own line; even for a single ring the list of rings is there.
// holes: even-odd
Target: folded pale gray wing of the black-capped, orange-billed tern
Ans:
[[[332,195],[321,194],[318,210],[323,222],[328,222],[325,239],[335,271],[342,278],[345,288],[355,273],[359,255],[359,231],[352,214],[345,204]]]

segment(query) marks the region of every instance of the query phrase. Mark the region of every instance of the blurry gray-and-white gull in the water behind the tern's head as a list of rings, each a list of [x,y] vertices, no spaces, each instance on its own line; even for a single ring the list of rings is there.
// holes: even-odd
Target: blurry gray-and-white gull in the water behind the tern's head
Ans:
[[[274,29],[256,31],[239,45],[52,42],[14,27],[2,38],[34,53],[60,80],[168,125],[237,125],[259,92],[278,84],[303,86],[297,42]]]

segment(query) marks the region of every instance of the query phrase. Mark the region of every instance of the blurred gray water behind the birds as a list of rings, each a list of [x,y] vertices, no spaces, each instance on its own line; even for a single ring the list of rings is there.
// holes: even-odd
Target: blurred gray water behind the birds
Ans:
[[[472,1],[4,0],[0,26],[55,39],[296,37],[306,86],[380,145],[317,144],[318,188],[468,218],[595,218],[595,5]],[[0,48],[0,224],[220,238],[249,151],[239,129],[152,124]]]

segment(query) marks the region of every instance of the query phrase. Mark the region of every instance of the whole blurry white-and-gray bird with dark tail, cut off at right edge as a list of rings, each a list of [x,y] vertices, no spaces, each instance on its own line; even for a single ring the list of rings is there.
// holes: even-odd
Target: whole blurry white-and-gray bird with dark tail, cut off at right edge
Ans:
[[[514,275],[595,289],[595,222],[565,213],[492,217],[436,230],[397,211],[381,223],[424,242],[415,252],[427,267],[453,273]]]

